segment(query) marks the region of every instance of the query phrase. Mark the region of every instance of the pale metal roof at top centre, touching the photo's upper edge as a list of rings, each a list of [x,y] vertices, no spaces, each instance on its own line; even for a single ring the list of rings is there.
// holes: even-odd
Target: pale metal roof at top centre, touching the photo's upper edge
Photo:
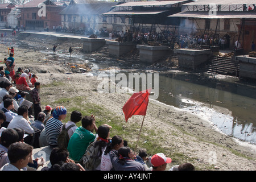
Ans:
[[[137,1],[137,2],[127,2],[121,5],[116,5],[115,7],[124,7],[124,6],[166,6],[174,5],[176,3],[185,2],[188,0],[181,1]]]

